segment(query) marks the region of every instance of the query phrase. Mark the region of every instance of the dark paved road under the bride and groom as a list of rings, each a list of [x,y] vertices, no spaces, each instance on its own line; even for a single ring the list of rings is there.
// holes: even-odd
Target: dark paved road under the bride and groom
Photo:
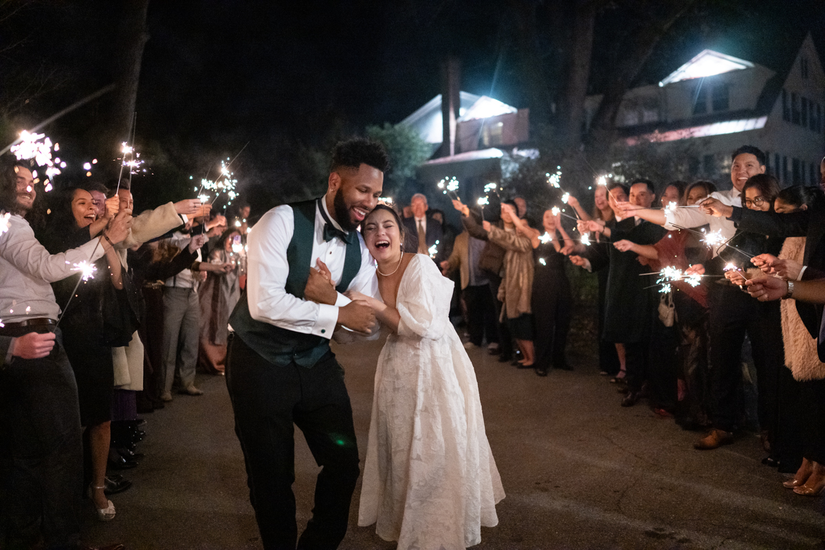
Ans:
[[[361,458],[380,346],[337,348]],[[483,529],[475,548],[825,548],[819,500],[781,487],[785,477],[760,464],[755,435],[695,451],[695,433],[643,404],[620,408],[592,359],[573,357],[575,372],[538,378],[481,350],[470,357],[507,491],[498,526]],[[130,550],[261,548],[224,378],[199,376],[198,386],[204,396],[176,397],[145,415],[147,458],[126,472],[134,487],[114,497],[118,515],[110,524],[97,523],[87,504],[87,540],[124,542]],[[303,525],[318,468],[300,435],[295,469]],[[360,489],[341,548],[395,548],[356,526]]]

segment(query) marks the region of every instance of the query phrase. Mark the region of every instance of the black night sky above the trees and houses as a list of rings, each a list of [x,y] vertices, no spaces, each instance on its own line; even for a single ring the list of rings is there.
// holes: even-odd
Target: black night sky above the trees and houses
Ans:
[[[111,82],[119,5],[35,1],[0,22],[0,73],[9,77],[0,101],[16,106],[6,109],[4,138]],[[611,33],[629,16],[621,5],[609,4],[596,24],[595,91],[605,64],[620,54]],[[250,142],[239,162],[247,176],[277,176],[302,147],[326,151],[430,100],[440,92],[446,54],[461,59],[464,91],[529,107],[521,92],[529,75],[518,72],[507,10],[507,2],[492,0],[154,0],[138,142],[192,172]],[[705,47],[770,66],[796,51],[805,29],[823,53],[821,0],[699,2],[662,40],[641,81],[656,82]],[[50,78],[12,94],[26,75]],[[31,101],[22,104],[22,96]],[[48,131],[92,155],[83,136],[100,115],[99,106],[87,106]]]

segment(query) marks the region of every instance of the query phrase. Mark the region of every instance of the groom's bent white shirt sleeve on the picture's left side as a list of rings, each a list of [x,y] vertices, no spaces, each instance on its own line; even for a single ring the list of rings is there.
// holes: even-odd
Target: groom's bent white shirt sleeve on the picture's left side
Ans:
[[[286,260],[286,247],[289,246],[294,231],[292,207],[282,205],[264,214],[249,233],[249,313],[256,321],[267,322],[290,331],[330,338],[338,321],[338,306],[346,304],[314,303],[286,292],[286,277],[290,271]]]

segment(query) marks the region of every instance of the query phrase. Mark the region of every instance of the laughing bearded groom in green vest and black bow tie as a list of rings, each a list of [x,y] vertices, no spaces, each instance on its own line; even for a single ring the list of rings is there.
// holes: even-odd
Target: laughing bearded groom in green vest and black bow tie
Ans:
[[[298,548],[337,548],[347,533],[358,449],[344,371],[329,338],[336,324],[364,333],[375,324],[365,302],[342,293],[380,295],[375,264],[356,228],[375,208],[387,166],[378,143],[338,143],[327,194],[271,209],[249,233],[247,289],[229,318],[234,333],[226,384],[267,550],[295,550],[298,538],[293,424],[323,468]],[[335,291],[311,269],[318,261],[328,267]]]

